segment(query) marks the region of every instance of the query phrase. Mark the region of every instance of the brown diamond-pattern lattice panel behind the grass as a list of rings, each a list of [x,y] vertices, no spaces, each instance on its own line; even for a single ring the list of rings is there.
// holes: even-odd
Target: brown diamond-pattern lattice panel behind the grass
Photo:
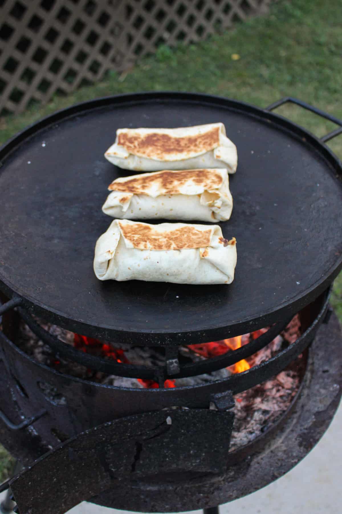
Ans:
[[[0,113],[130,67],[159,44],[205,39],[270,0],[0,0]]]

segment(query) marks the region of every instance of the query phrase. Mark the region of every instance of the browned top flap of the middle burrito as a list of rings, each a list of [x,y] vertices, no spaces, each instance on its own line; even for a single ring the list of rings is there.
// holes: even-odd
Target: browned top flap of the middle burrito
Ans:
[[[111,183],[108,189],[125,193],[148,194],[150,189],[156,187],[160,194],[179,194],[182,187],[191,183],[203,186],[208,191],[222,186],[223,178],[215,170],[165,170],[135,175],[128,179],[118,178]]]

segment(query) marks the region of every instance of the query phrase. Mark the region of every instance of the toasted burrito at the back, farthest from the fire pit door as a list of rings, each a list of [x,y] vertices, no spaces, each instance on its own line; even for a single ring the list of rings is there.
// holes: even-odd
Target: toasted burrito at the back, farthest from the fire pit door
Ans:
[[[236,146],[223,123],[180,128],[119,128],[106,159],[135,171],[227,168],[235,173]]]

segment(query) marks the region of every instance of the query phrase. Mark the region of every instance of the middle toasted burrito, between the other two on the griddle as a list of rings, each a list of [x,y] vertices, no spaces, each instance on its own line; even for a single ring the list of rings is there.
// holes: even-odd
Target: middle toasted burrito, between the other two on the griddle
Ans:
[[[113,218],[230,218],[233,199],[227,169],[157,171],[114,180],[102,210]]]

